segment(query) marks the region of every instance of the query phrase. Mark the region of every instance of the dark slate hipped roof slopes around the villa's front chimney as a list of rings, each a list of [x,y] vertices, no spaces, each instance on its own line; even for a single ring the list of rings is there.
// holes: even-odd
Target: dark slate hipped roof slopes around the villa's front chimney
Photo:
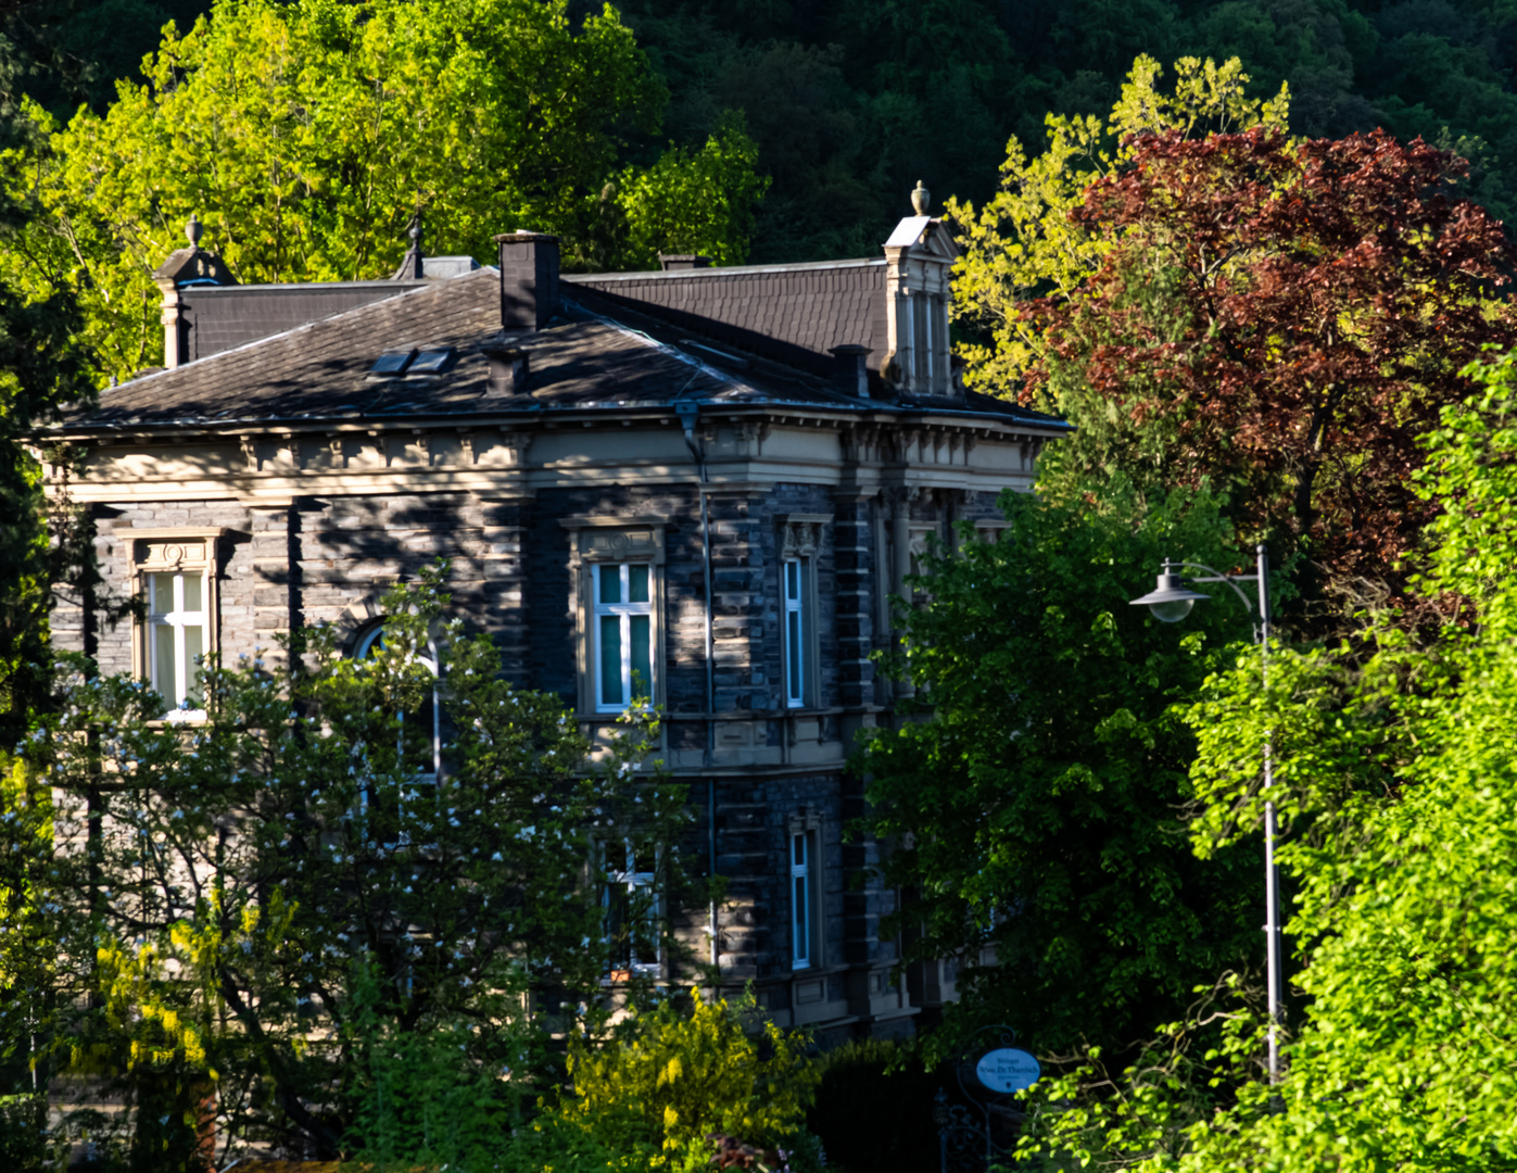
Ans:
[[[883,275],[875,272],[875,278],[883,287]],[[1065,426],[980,395],[900,405],[857,399],[833,390],[830,367],[828,378],[818,378],[757,354],[722,351],[718,343],[725,338],[692,338],[689,317],[669,313],[655,300],[614,299],[619,320],[613,320],[599,313],[605,299],[596,290],[579,296],[587,284],[566,282],[564,303],[546,329],[502,335],[496,269],[419,282],[384,300],[112,387],[102,393],[96,408],[74,414],[56,431],[221,431],[551,410],[666,411],[674,399],[731,407],[916,408],[994,416],[1035,428]],[[654,282],[655,288],[671,285]],[[731,305],[724,311],[731,313]],[[762,319],[763,311],[751,311],[749,320]],[[526,393],[492,392],[485,351],[502,343],[529,354]],[[381,352],[411,346],[454,347],[457,360],[437,375],[373,378],[369,373]],[[831,363],[830,355],[827,361]]]

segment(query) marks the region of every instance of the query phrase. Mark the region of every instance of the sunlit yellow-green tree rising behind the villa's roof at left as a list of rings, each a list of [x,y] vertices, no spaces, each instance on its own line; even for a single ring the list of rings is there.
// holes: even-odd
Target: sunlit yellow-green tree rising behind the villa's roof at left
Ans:
[[[566,0],[220,0],[168,26],[144,73],[103,115],[5,156],[44,212],[5,263],[74,284],[117,376],[159,361],[150,273],[191,212],[244,282],[350,281],[394,269],[419,208],[432,252],[490,258],[493,234],[532,228],[570,263],[671,244],[740,259],[762,194],[736,124],[651,168],[620,161],[666,91],[610,8],[575,23]],[[611,179],[630,250],[596,238]]]

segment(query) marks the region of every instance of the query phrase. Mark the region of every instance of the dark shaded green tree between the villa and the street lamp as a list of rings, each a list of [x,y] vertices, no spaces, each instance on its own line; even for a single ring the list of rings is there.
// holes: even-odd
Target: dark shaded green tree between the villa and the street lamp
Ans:
[[[1120,480],[1001,507],[1004,539],[931,560],[903,612],[895,671],[933,719],[863,745],[866,827],[895,844],[909,956],[960,961],[954,1015],[1126,1046],[1261,951],[1253,860],[1185,841],[1195,741],[1170,712],[1247,616],[1218,599],[1177,643],[1129,605],[1167,557],[1230,566],[1230,531],[1204,493]]]

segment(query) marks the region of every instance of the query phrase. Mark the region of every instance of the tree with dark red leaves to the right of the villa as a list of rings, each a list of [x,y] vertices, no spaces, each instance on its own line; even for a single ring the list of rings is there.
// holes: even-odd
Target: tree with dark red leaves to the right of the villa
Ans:
[[[1153,137],[1071,212],[1109,252],[1025,307],[1047,349],[1024,398],[1080,425],[1082,473],[1226,489],[1247,540],[1306,555],[1308,596],[1397,596],[1420,439],[1517,340],[1517,258],[1464,171],[1384,132]]]

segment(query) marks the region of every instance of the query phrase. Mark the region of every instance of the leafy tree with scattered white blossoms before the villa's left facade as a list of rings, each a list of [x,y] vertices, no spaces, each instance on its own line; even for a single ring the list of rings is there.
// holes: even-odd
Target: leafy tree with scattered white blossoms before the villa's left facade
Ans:
[[[29,988],[0,1012],[62,1074],[120,1079],[138,1143],[182,1120],[165,1137],[182,1152],[214,1093],[228,1146],[378,1146],[363,1127],[385,1056],[434,1033],[463,1041],[467,1087],[510,1117],[551,1030],[604,1024],[617,941],[593,860],[630,844],[672,891],[683,789],[643,765],[643,710],[589,762],[557,698],[513,690],[487,637],[441,622],[441,575],[387,595],[366,660],[317,630],[208,666],[194,725],[161,719],[140,681],[82,677],[30,739],[0,819]],[[651,903],[628,921],[663,932]]]

